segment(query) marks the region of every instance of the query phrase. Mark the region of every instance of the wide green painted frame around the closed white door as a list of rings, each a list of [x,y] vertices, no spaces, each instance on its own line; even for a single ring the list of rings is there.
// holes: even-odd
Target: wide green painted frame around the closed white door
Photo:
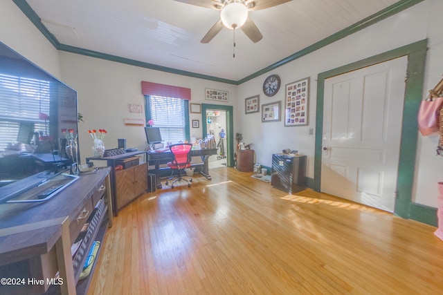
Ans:
[[[323,100],[325,79],[378,64],[397,57],[408,56],[406,93],[401,128],[401,143],[397,176],[395,214],[428,225],[437,225],[436,209],[412,202],[417,153],[417,113],[423,95],[424,66],[426,64],[427,39],[390,50],[340,68],[318,74],[316,109],[316,144],[314,155],[314,189],[321,191],[321,155],[323,142]]]

